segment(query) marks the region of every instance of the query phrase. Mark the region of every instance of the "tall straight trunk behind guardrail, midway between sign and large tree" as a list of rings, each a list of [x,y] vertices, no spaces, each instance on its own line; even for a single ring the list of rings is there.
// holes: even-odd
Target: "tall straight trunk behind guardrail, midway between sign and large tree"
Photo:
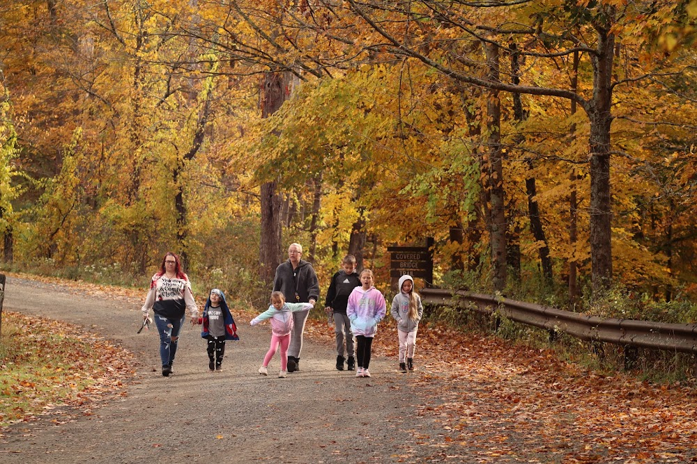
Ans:
[[[484,44],[489,67],[489,80],[499,81],[499,51],[496,45]],[[487,145],[489,150],[489,182],[491,186],[491,267],[493,289],[506,287],[506,216],[503,190],[503,150],[501,147],[501,102],[498,90],[489,90],[487,99]]]

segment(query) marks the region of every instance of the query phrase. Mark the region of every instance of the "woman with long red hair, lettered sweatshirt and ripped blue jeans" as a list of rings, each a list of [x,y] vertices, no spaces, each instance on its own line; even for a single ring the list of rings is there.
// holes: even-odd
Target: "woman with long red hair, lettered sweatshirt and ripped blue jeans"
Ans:
[[[191,291],[191,282],[182,271],[179,257],[167,253],[162,258],[160,271],[153,275],[150,291],[143,305],[143,319],[148,319],[150,310],[155,312],[155,325],[160,333],[160,358],[162,375],[171,374],[179,332],[184,324],[186,310],[191,312],[191,323],[199,320],[199,310]]]

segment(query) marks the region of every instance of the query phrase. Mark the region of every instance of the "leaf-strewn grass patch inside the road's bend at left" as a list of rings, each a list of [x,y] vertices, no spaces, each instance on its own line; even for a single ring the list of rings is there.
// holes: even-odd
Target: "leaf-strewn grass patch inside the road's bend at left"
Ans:
[[[59,406],[90,414],[128,373],[130,353],[77,326],[16,312],[2,318],[0,430]]]

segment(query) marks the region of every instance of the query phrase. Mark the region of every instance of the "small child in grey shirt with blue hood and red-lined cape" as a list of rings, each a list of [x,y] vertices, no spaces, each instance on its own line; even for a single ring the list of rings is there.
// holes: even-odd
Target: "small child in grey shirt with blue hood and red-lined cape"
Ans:
[[[225,340],[238,340],[237,326],[232,313],[227,307],[225,295],[219,289],[213,289],[208,295],[201,337],[208,340],[208,369],[211,372],[222,371],[222,358],[225,355]]]

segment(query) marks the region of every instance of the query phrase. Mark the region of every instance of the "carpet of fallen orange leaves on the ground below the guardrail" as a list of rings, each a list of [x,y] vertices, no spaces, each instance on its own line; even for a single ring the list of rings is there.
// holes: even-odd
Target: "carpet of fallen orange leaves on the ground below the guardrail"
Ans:
[[[333,341],[326,326],[308,325]],[[396,355],[393,326],[381,323],[374,352]],[[432,445],[448,455],[481,463],[694,461],[691,387],[598,374],[549,350],[425,324],[417,346],[420,369],[410,381],[423,401],[418,414],[441,425]]]

